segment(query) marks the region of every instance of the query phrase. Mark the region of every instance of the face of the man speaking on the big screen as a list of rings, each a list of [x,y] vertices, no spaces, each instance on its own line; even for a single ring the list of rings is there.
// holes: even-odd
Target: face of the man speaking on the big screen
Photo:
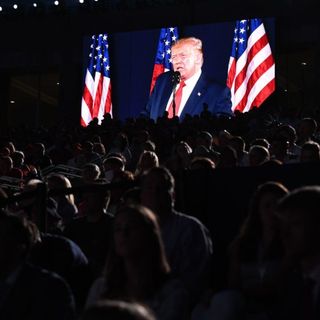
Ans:
[[[172,47],[172,65],[179,71],[182,80],[187,80],[200,70],[202,55],[191,44],[178,44]]]

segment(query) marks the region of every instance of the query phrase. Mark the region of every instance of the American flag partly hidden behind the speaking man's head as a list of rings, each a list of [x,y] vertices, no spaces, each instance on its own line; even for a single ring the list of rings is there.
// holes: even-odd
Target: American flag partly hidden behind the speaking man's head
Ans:
[[[166,71],[172,69],[171,64],[171,46],[178,40],[178,29],[173,28],[162,28],[160,30],[160,37],[158,42],[158,50],[156,60],[154,63],[150,92],[152,91],[157,77]]]

